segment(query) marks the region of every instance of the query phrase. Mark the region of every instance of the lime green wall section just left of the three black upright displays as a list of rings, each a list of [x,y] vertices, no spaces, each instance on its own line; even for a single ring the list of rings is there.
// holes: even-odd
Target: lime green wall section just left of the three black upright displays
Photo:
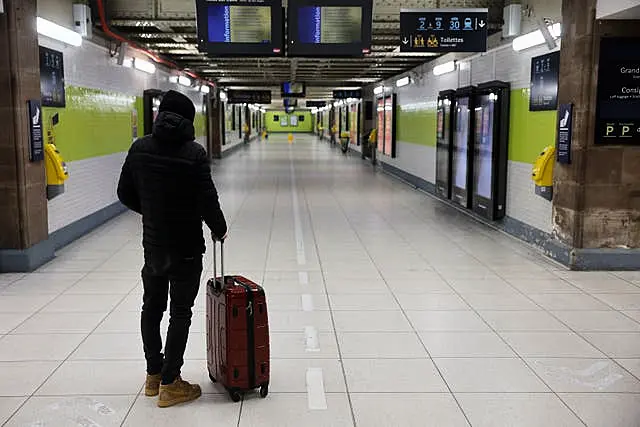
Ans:
[[[398,141],[409,144],[436,146],[436,122],[435,109],[405,110],[402,106],[396,109]]]

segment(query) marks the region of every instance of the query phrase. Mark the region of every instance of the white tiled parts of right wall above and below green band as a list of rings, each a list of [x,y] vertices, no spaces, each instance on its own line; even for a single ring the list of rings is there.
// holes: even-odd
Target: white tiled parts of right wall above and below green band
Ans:
[[[482,55],[457,57],[458,70],[442,76],[433,75],[435,65],[451,61],[443,56],[409,73],[413,83],[400,89],[398,106],[403,109],[435,108],[438,92],[491,80],[511,83],[511,89],[529,87],[531,58],[549,53],[546,46],[515,52],[510,44]],[[397,79],[397,77],[396,77]],[[385,82],[394,87],[395,79]],[[395,159],[380,155],[381,160],[429,182],[435,182],[436,156],[434,147],[424,147],[398,141]],[[507,215],[545,232],[551,232],[551,202],[536,196],[531,182],[531,164],[509,162]]]

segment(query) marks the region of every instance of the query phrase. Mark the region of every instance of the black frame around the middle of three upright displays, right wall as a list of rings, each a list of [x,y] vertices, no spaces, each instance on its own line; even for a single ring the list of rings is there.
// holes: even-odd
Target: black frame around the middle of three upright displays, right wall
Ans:
[[[453,97],[453,134],[451,135],[451,200],[455,203],[458,203],[464,206],[467,209],[471,209],[471,202],[473,200],[472,197],[472,185],[473,185],[473,123],[475,123],[475,101],[476,101],[476,87],[475,86],[467,86],[456,90],[455,95]],[[468,98],[469,99],[469,123],[467,124],[467,156],[466,156],[466,166],[467,166],[467,174],[465,177],[466,188],[461,188],[456,186],[454,175],[455,175],[455,162],[453,161],[454,154],[456,152],[455,145],[455,131],[458,128],[458,103],[461,99]]]

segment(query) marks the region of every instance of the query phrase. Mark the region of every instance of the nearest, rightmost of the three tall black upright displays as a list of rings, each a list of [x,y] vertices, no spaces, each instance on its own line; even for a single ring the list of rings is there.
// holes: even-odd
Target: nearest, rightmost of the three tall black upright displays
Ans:
[[[492,221],[505,216],[509,149],[509,83],[478,85],[473,129],[473,210]]]

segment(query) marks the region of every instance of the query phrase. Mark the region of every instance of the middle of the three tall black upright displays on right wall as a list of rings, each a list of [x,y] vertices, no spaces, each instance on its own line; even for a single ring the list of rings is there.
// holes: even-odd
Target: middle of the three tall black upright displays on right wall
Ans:
[[[471,208],[472,200],[475,94],[475,86],[469,86],[458,89],[453,97],[451,199],[465,208]]]

